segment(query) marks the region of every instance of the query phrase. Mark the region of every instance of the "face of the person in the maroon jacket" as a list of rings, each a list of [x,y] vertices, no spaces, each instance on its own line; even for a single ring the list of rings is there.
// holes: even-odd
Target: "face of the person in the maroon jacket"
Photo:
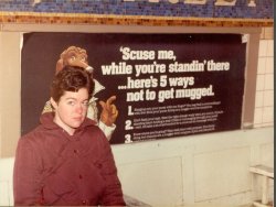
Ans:
[[[54,122],[72,135],[86,117],[88,90],[81,88],[77,92],[65,91],[59,102],[51,98],[51,103],[55,109]]]

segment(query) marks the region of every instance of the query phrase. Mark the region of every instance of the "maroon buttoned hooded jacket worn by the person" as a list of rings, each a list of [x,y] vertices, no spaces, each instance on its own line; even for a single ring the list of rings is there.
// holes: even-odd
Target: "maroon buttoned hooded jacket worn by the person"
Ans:
[[[110,145],[89,119],[70,135],[41,116],[41,124],[19,140],[14,205],[125,205]]]

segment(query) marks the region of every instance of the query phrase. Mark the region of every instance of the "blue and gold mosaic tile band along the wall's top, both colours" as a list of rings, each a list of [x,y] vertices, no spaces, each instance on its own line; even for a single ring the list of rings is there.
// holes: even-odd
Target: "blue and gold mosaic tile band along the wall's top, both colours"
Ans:
[[[272,26],[273,0],[0,0],[0,24]],[[0,30],[1,28],[0,26]]]

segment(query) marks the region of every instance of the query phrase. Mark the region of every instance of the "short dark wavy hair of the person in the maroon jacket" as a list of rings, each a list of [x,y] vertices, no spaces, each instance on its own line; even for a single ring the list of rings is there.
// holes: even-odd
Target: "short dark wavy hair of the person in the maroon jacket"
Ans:
[[[53,79],[50,95],[54,101],[59,102],[65,91],[76,92],[81,88],[88,90],[88,98],[92,98],[95,83],[88,72],[78,66],[64,66]]]

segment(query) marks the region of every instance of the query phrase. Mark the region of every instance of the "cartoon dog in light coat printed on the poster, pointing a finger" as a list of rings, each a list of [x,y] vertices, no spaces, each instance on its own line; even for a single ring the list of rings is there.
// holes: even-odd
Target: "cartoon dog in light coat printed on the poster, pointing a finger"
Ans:
[[[93,76],[94,68],[88,65],[87,53],[84,48],[77,46],[70,46],[65,51],[63,51],[60,56],[60,59],[56,63],[55,73],[60,72],[66,65],[83,67],[88,70]],[[116,129],[115,121],[118,117],[118,110],[113,103],[116,99],[116,96],[109,97],[106,102],[102,100],[98,102],[102,106],[102,113],[98,120],[98,109],[96,103],[97,98],[95,98],[94,95],[96,95],[100,90],[104,90],[105,87],[100,85],[95,78],[94,81],[95,89],[89,100],[87,117],[96,121],[98,127],[105,133],[106,138],[110,140],[112,134]],[[44,106],[42,113],[50,111],[53,111],[53,108],[51,106],[51,102],[47,101]]]

